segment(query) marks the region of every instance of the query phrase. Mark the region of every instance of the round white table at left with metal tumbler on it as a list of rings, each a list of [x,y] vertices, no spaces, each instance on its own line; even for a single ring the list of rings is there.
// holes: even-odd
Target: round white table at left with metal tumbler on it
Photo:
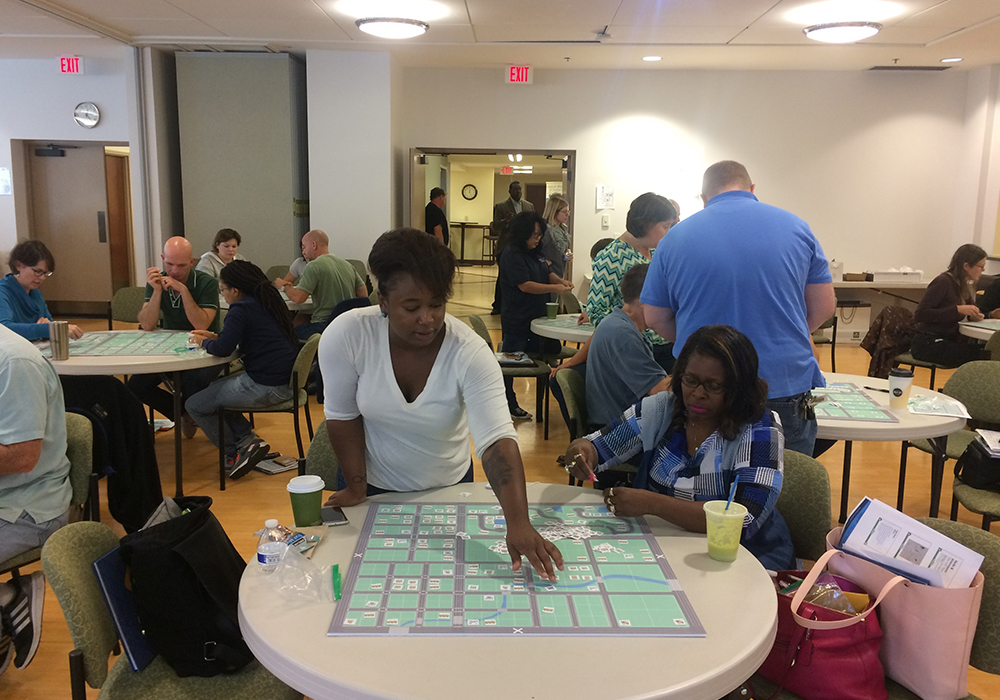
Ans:
[[[105,335],[138,334],[147,331],[96,331],[84,338]],[[153,333],[177,331],[152,331]],[[51,360],[56,374],[66,376],[115,375],[115,374],[156,374],[173,373],[174,387],[180,386],[180,373],[190,369],[201,369],[212,365],[227,364],[239,357],[233,353],[229,357],[216,357],[204,350],[189,350],[173,355],[74,355],[73,341],[70,341],[69,359]],[[175,495],[184,495],[184,452],[181,442],[179,416],[181,415],[181,393],[174,391],[174,482]]]

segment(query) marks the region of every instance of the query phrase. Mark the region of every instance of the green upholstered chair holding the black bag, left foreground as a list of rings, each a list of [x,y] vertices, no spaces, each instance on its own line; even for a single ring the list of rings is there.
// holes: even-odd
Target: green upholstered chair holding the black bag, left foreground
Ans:
[[[42,548],[42,570],[62,607],[75,647],[69,654],[73,698],[86,697],[84,683],[100,690],[100,700],[302,697],[256,660],[230,675],[180,678],[159,656],[133,672],[122,654],[109,670],[108,658],[118,647],[118,636],[92,566],[117,546],[118,536],[106,526],[81,522],[60,529]]]

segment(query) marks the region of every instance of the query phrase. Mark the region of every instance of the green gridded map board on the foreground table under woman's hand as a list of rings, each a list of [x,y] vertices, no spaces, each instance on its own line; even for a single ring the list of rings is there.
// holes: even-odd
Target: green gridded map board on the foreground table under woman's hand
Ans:
[[[555,583],[511,570],[495,503],[373,504],[328,634],[705,636],[642,518],[528,511],[562,552]]]

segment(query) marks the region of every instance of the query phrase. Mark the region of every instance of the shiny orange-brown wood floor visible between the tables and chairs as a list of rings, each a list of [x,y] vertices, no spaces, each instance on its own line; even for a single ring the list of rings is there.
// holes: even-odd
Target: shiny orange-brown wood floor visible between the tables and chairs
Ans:
[[[496,268],[460,268],[455,283],[455,295],[449,304],[449,312],[467,319],[470,314],[478,314],[492,330],[494,339],[499,339],[499,317],[490,316]],[[95,320],[77,321],[85,330],[106,329],[106,323]],[[128,326],[120,325],[121,328]],[[830,367],[829,346],[821,346],[820,364]],[[868,354],[857,347],[838,347],[837,368],[841,372],[866,374]],[[938,386],[948,377],[948,372],[938,374]],[[917,370],[917,383],[927,386],[929,374]],[[517,380],[516,389],[521,405],[534,411],[534,381]],[[314,425],[323,420],[322,407],[311,405]],[[569,438],[566,426],[559,415],[558,406],[551,406],[549,439],[543,439],[542,424],[517,422],[518,442],[524,459],[528,481],[565,483],[566,475],[556,465],[556,457],[562,454]],[[272,446],[286,455],[295,455],[295,436],[289,415],[266,414],[256,418],[257,431]],[[303,421],[304,423],[304,421]],[[305,426],[303,425],[303,431]],[[303,439],[308,436],[303,435]],[[156,438],[157,458],[166,494],[172,494],[174,483],[173,435],[161,433]],[[851,501],[853,506],[865,495],[879,498],[887,503],[895,503],[897,474],[899,469],[899,443],[864,443],[854,445],[851,478]],[[252,536],[254,530],[262,527],[267,518],[278,518],[283,523],[291,521],[291,508],[285,484],[290,474],[266,476],[251,472],[237,482],[230,482],[224,493],[218,486],[218,457],[215,448],[199,431],[191,440],[184,440],[184,488],[187,494],[208,495],[214,499],[213,511],[225,526],[226,531],[240,553],[249,560],[256,548]],[[836,520],[840,503],[840,483],[843,463],[843,445],[838,443],[820,461],[830,474],[833,491],[833,516]],[[949,463],[949,472],[952,463]],[[906,483],[904,510],[914,516],[923,516],[930,506],[930,459],[916,450],[910,451]],[[950,473],[950,472],[949,472]],[[483,480],[481,466],[476,463],[476,480]],[[116,527],[107,513],[105,483],[101,482],[101,502],[104,522]],[[940,517],[948,517],[951,503],[950,478],[946,475],[942,510]],[[959,519],[975,526],[980,519],[962,511]],[[117,528],[119,534],[120,528]],[[23,569],[30,572],[38,568],[31,565]],[[69,631],[59,604],[51,589],[46,591],[43,634],[38,653],[31,665],[24,670],[16,670],[13,664],[0,675],[0,700],[53,700],[69,698],[69,666],[67,654],[72,649]],[[581,671],[585,672],[585,671]],[[990,676],[970,669],[969,692],[981,698],[1000,698],[1000,677]],[[96,698],[97,691],[88,689],[88,698]],[[139,700],[139,699],[137,699]]]

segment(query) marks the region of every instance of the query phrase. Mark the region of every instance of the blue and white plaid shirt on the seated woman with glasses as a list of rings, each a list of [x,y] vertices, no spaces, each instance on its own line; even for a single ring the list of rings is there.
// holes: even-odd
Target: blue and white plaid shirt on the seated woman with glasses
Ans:
[[[686,501],[715,501],[729,498],[729,488],[739,475],[735,500],[746,506],[743,539],[752,538],[768,521],[781,493],[785,438],[781,423],[770,411],[756,423],[744,426],[736,438],[735,459],[724,464],[726,440],[712,433],[695,454],[688,454],[684,430],[667,432],[656,446],[642,450],[644,426],[642,402],[628,408],[617,420],[587,436],[597,448],[597,471],[628,461],[642,453],[635,484],[650,491]]]

